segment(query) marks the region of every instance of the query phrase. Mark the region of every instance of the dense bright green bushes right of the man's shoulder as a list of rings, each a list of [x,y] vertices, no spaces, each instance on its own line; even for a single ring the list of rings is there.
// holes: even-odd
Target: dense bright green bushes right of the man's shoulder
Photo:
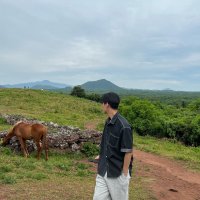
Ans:
[[[200,145],[200,99],[177,107],[137,97],[122,100],[121,113],[139,135],[171,138],[185,145]]]

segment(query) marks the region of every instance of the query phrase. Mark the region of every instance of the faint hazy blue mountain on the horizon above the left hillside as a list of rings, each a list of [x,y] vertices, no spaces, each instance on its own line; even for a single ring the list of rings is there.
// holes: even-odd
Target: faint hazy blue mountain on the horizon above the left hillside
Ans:
[[[41,86],[41,87],[39,87]],[[67,87],[69,85],[66,84],[61,84],[61,83],[54,83],[54,82],[50,82],[48,80],[44,80],[44,81],[36,81],[36,82],[29,82],[29,83],[19,83],[19,84],[14,84],[14,85],[3,85],[3,87],[6,88],[34,88],[34,89],[44,89],[43,87],[50,87],[52,88],[64,88]],[[35,88],[36,87],[36,88]]]

